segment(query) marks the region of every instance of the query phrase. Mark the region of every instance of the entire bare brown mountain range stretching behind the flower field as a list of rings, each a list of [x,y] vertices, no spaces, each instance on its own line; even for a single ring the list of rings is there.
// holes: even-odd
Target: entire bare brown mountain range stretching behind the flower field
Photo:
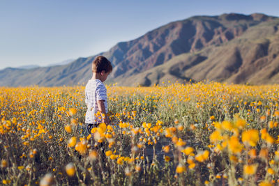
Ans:
[[[101,53],[114,66],[108,82],[150,86],[209,79],[236,84],[279,83],[279,18],[255,13],[195,16],[171,22]],[[0,86],[86,83],[95,56],[59,66],[0,71]]]

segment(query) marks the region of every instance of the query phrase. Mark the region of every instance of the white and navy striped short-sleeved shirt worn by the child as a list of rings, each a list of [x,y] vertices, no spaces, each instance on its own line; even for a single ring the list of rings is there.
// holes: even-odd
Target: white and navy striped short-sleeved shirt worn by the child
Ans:
[[[90,79],[85,86],[85,103],[87,111],[85,123],[102,123],[101,116],[98,113],[98,100],[104,100],[105,112],[107,113],[107,88],[100,79]]]

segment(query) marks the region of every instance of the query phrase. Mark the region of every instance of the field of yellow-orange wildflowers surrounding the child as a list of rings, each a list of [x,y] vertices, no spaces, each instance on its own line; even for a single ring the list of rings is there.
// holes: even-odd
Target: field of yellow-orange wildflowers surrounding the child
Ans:
[[[279,85],[0,88],[1,185],[278,185]]]

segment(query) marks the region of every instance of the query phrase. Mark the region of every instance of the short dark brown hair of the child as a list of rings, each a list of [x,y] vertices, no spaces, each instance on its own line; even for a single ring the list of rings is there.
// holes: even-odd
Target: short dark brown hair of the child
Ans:
[[[104,56],[96,56],[92,62],[92,72],[100,73],[103,70],[112,72],[112,64]]]

